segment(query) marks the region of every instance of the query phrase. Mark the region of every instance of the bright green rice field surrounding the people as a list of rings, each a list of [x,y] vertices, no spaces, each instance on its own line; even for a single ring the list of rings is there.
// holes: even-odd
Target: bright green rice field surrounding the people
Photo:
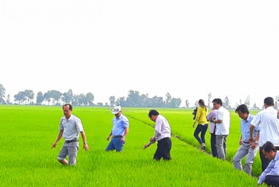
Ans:
[[[74,107],[73,114],[84,125],[89,152],[82,148],[75,167],[63,166],[57,155],[61,139],[51,149],[63,116],[61,106],[0,106],[0,186],[257,186],[257,179],[234,170],[232,157],[239,147],[239,117],[232,112],[227,140],[228,161],[221,161],[197,149],[193,137],[192,111],[158,109],[172,127],[172,161],[153,161],[156,144],[143,149],[153,136],[149,108],[123,108],[130,120],[130,132],[123,152],[105,152],[112,129],[107,108]],[[255,113],[255,112],[252,112]],[[209,133],[206,133],[210,151]],[[260,173],[259,158],[253,173]]]

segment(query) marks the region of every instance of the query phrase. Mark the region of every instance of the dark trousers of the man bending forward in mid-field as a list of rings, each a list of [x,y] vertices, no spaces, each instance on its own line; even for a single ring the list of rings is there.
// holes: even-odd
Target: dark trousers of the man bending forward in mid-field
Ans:
[[[153,159],[160,161],[163,157],[164,161],[171,160],[170,149],[172,149],[172,140],[170,138],[163,138],[158,140],[157,149],[153,156]]]

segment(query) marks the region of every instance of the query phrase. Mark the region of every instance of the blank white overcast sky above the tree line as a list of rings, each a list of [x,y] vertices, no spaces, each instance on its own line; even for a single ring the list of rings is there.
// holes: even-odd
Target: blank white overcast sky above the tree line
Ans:
[[[0,0],[0,83],[207,103],[279,95],[279,1]]]

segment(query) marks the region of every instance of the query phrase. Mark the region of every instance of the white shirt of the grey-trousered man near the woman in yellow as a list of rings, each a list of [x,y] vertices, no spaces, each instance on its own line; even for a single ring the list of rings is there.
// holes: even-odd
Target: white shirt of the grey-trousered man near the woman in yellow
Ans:
[[[220,106],[217,110],[216,120],[222,120],[221,123],[216,123],[216,135],[228,135],[229,134],[229,124],[230,124],[229,111]]]

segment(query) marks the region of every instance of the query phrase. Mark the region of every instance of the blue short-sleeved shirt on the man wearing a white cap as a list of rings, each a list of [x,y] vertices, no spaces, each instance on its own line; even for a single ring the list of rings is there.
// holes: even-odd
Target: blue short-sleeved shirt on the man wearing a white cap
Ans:
[[[129,127],[129,120],[123,114],[121,114],[119,118],[114,117],[112,119],[112,123],[112,136],[123,136],[125,133],[125,128]]]

